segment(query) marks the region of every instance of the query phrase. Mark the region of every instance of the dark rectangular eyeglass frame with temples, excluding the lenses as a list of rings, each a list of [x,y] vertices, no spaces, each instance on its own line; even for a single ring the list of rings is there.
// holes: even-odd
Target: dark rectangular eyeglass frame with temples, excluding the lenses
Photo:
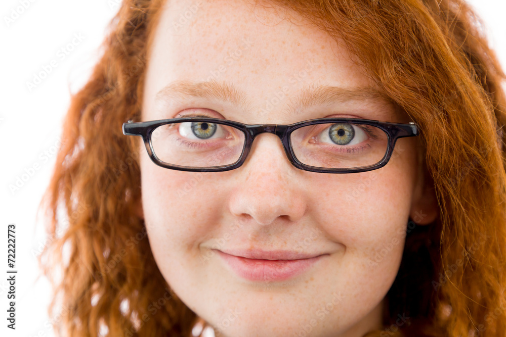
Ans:
[[[162,125],[172,124],[172,123],[183,123],[183,122],[202,122],[202,123],[218,123],[222,125],[232,126],[244,133],[244,146],[242,149],[242,153],[239,159],[231,164],[231,165],[221,165],[214,167],[190,167],[190,166],[179,166],[179,165],[171,165],[165,163],[158,159],[153,150],[153,145],[151,141],[151,135],[153,131]],[[323,168],[317,166],[310,166],[301,163],[295,154],[293,153],[293,149],[291,147],[290,142],[290,134],[294,130],[298,128],[309,126],[309,125],[317,125],[317,124],[327,124],[327,123],[352,123],[352,124],[363,124],[363,125],[371,125],[383,130],[388,137],[388,147],[385,156],[381,161],[374,165],[357,167],[357,168]],[[173,169],[178,171],[189,171],[189,172],[224,172],[230,171],[240,167],[246,160],[249,151],[253,145],[253,141],[255,137],[261,133],[268,132],[277,135],[281,139],[281,143],[283,145],[284,151],[290,163],[297,167],[298,169],[309,171],[309,172],[318,172],[318,173],[359,173],[359,172],[367,172],[376,170],[378,168],[382,168],[387,165],[394,151],[395,143],[398,138],[404,137],[413,137],[419,134],[418,126],[414,122],[409,122],[408,124],[402,123],[393,123],[393,122],[382,122],[378,120],[372,119],[361,119],[361,118],[317,118],[305,120],[293,124],[243,124],[236,121],[219,119],[213,117],[181,117],[181,118],[171,118],[171,119],[161,119],[161,120],[153,120],[146,122],[133,122],[129,120],[126,123],[123,123],[122,126],[123,134],[129,136],[141,136],[144,140],[144,145],[146,147],[146,151],[148,152],[151,160],[158,166]]]

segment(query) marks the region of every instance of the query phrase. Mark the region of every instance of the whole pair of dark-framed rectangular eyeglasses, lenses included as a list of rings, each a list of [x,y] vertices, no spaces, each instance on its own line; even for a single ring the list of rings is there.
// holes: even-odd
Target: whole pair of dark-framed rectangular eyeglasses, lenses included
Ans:
[[[289,125],[248,125],[211,117],[123,123],[123,134],[142,136],[151,160],[164,168],[229,171],[241,166],[253,140],[276,134],[293,166],[320,173],[357,173],[385,166],[398,138],[418,135],[415,123],[319,118]]]

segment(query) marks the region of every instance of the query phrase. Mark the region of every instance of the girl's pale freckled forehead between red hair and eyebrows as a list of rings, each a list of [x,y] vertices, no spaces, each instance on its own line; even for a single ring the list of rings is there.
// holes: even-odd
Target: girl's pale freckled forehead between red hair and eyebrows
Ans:
[[[342,41],[286,8],[242,0],[168,1],[151,45],[143,110],[175,98],[173,89],[182,88],[177,83],[199,83],[192,89],[198,93],[210,87],[202,83],[218,82],[223,85],[212,86],[218,93],[219,88],[234,88],[236,94],[229,97],[242,97],[242,107],[236,106],[250,113],[243,119],[249,123],[260,122],[253,119],[270,102],[282,104],[269,111],[269,118],[308,109],[310,101],[328,105],[315,96],[331,97],[322,90],[327,86],[361,89],[355,106],[392,114],[391,102],[386,95],[374,97],[377,90],[352,58]],[[188,85],[183,87],[188,93]],[[226,96],[222,90],[221,97]]]

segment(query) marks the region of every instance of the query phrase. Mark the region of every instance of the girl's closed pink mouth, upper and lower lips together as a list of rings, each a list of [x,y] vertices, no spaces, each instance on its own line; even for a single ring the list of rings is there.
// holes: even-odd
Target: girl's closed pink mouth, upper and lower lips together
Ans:
[[[287,251],[217,250],[234,272],[251,281],[282,281],[302,274],[326,254],[299,254]]]

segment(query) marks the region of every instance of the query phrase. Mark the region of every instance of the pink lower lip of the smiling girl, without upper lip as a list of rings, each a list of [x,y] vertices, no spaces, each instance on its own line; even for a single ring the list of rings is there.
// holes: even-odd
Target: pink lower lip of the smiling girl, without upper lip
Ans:
[[[217,251],[234,272],[251,281],[275,282],[302,274],[323,255],[300,260],[247,259]]]

